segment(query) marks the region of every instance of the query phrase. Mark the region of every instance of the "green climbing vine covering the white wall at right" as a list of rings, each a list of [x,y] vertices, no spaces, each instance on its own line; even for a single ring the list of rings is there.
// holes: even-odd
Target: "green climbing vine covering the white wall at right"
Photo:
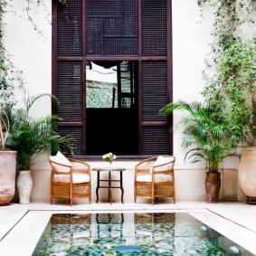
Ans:
[[[206,100],[230,121],[231,142],[256,141],[256,35],[242,38],[242,26],[255,23],[255,0],[198,0],[214,8],[213,43],[204,70]],[[254,31],[255,33],[256,31]],[[215,69],[209,75],[208,69]],[[213,72],[212,72],[213,73]]]

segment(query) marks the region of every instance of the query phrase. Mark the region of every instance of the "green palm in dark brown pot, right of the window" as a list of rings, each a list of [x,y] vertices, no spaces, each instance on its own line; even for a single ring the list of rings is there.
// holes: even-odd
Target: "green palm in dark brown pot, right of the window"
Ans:
[[[175,110],[188,112],[188,116],[179,123],[185,126],[181,145],[185,148],[185,159],[192,164],[204,163],[206,202],[218,203],[221,187],[219,165],[237,156],[229,140],[229,123],[222,113],[201,102],[169,103],[161,109],[161,113],[168,115]]]

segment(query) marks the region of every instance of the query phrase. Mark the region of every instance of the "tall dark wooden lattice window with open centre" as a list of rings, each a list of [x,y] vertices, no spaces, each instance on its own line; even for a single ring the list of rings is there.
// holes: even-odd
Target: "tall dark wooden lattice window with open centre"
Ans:
[[[53,1],[52,92],[77,156],[172,154],[170,0]]]

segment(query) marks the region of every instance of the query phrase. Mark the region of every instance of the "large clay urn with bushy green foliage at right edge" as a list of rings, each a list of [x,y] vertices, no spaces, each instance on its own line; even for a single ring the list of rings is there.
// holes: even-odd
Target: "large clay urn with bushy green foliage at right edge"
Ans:
[[[233,134],[243,146],[238,178],[250,203],[256,198],[256,34],[224,50],[218,70]]]

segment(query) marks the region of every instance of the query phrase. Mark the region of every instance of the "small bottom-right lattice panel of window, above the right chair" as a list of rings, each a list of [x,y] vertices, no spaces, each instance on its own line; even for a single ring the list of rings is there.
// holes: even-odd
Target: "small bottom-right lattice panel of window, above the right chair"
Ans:
[[[142,155],[159,156],[168,154],[168,128],[142,128]]]

